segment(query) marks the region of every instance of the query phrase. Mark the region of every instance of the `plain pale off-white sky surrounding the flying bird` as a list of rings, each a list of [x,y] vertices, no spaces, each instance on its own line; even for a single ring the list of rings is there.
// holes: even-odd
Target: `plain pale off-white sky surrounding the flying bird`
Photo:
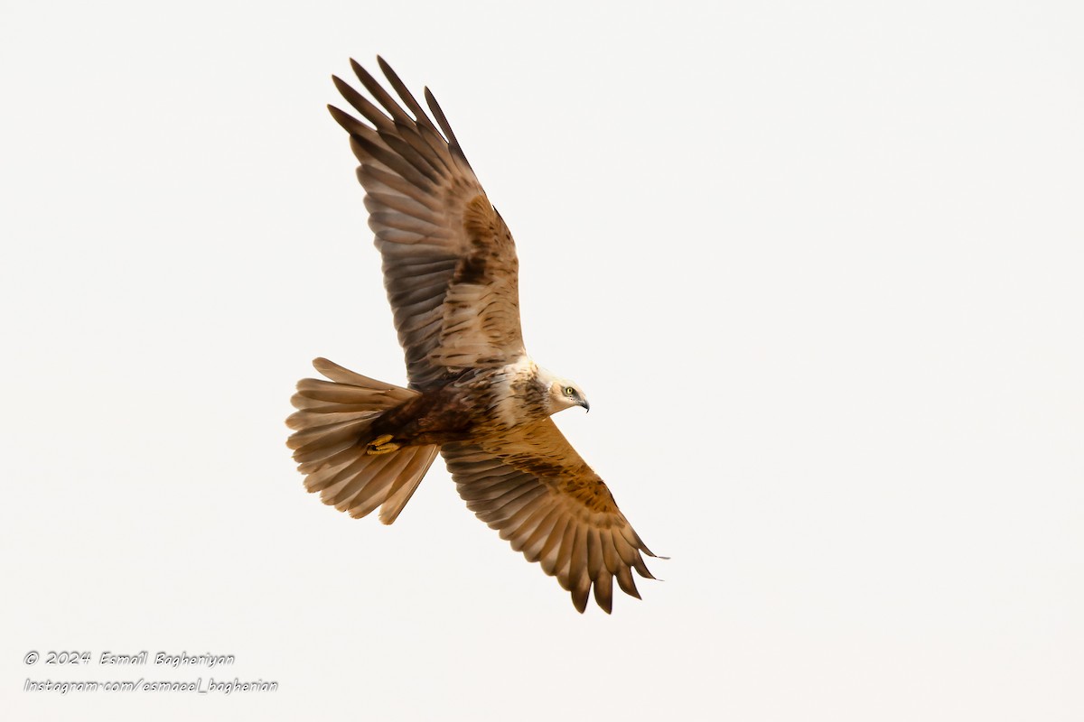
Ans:
[[[1084,5],[0,8],[5,719],[1084,719]],[[377,53],[672,556],[611,617],[439,461],[391,527],[294,469],[312,357],[405,379],[324,109]],[[197,677],[280,686],[23,691]]]

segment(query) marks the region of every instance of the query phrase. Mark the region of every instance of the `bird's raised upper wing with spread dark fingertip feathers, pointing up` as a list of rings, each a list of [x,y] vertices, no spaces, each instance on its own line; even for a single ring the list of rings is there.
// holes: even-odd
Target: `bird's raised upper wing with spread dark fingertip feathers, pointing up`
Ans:
[[[512,234],[433,94],[426,89],[439,129],[388,64],[377,62],[402,105],[350,61],[380,107],[333,78],[372,126],[328,109],[361,162],[358,180],[384,257],[410,385],[424,391],[463,369],[503,366],[524,353],[518,261]]]

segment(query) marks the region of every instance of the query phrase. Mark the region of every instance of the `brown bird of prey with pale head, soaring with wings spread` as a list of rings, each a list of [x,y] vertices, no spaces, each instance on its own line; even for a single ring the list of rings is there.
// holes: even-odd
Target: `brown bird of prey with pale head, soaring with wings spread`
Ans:
[[[410,383],[402,389],[313,362],[328,380],[299,381],[298,410],[287,420],[306,488],[354,517],[379,508],[391,524],[439,451],[481,521],[556,576],[579,612],[593,588],[609,614],[614,579],[640,599],[631,570],[654,579],[642,553],[655,554],[550,418],[589,409],[588,399],[527,354],[512,234],[444,114],[426,89],[430,119],[377,62],[398,101],[350,61],[375,103],[333,80],[369,124],[328,109],[361,163]]]

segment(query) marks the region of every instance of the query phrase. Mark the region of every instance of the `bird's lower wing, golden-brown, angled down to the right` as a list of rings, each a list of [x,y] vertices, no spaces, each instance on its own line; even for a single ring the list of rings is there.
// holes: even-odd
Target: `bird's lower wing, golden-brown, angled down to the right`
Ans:
[[[552,420],[501,437],[444,444],[440,452],[467,507],[527,561],[556,576],[580,612],[592,587],[609,614],[615,577],[637,599],[631,570],[655,578],[641,552],[655,554]]]

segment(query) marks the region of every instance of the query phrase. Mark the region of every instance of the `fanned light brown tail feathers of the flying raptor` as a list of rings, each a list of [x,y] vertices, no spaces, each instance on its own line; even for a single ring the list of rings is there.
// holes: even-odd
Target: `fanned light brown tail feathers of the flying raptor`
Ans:
[[[391,524],[410,500],[439,450],[404,446],[388,454],[367,452],[373,422],[388,409],[417,395],[333,364],[312,362],[331,381],[302,379],[292,399],[298,409],[286,420],[305,488],[353,517],[380,507],[380,521]]]

